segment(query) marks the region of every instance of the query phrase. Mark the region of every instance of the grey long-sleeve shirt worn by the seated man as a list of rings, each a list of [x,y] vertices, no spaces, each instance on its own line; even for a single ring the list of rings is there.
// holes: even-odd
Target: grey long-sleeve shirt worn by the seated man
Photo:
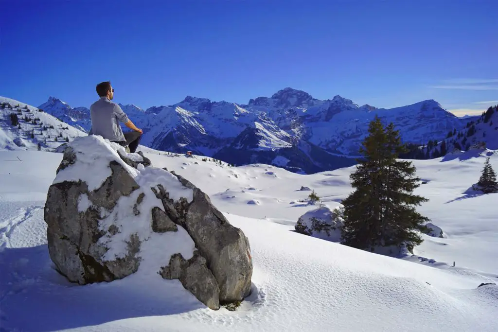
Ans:
[[[101,135],[110,141],[125,141],[119,121],[128,122],[128,116],[118,104],[111,102],[109,98],[101,97],[90,106],[90,118],[92,129],[89,134]]]

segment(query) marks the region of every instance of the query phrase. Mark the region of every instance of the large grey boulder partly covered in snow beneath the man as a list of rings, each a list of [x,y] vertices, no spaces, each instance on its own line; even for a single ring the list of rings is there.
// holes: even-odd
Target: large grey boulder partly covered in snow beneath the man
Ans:
[[[188,180],[150,165],[101,136],[68,144],[44,211],[59,272],[79,284],[178,279],[214,310],[243,300],[252,276],[244,232]]]

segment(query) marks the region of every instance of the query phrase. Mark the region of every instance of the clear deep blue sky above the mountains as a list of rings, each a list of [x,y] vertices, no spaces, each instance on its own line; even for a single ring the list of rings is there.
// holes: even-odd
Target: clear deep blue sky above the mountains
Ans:
[[[1,0],[0,95],[247,103],[285,87],[459,115],[498,104],[495,0]]]

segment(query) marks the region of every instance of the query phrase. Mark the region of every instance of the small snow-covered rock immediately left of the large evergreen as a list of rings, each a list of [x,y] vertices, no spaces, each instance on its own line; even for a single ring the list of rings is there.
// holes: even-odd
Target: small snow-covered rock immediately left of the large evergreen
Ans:
[[[317,209],[310,210],[299,217],[294,229],[298,233],[339,242],[343,222],[341,208],[331,210],[321,204]]]

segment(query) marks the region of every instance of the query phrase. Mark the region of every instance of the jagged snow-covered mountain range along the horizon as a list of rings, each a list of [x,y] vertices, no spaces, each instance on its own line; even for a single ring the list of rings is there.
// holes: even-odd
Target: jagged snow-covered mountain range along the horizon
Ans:
[[[375,115],[385,123],[394,122],[403,140],[415,144],[440,141],[450,130],[462,130],[477,118],[459,118],[434,100],[378,109],[341,96],[318,100],[291,88],[251,99],[246,105],[187,96],[172,106],[147,110],[120,106],[143,129],[141,144],[145,146],[192,151],[237,165],[273,164],[305,173],[355,164]],[[39,109],[75,128],[88,131],[91,127],[85,107],[72,108],[50,97]]]

